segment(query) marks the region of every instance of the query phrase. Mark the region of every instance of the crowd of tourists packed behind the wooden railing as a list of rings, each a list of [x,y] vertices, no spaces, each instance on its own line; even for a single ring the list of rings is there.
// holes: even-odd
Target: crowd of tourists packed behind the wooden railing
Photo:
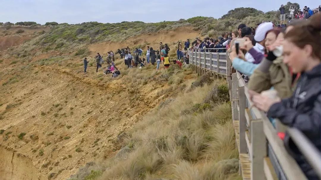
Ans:
[[[321,13],[286,27],[263,22],[256,28],[239,24],[218,39],[196,38],[198,52],[227,52],[231,72],[247,82],[254,106],[273,125],[275,119],[301,131],[321,151]],[[213,49],[223,48],[223,49]],[[278,133],[308,179],[319,179],[288,134]]]

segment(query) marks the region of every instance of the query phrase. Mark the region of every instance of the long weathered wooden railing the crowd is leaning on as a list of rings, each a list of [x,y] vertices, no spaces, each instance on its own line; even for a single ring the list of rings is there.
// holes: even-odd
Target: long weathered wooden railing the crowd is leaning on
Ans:
[[[252,180],[304,180],[307,179],[296,161],[287,153],[277,132],[285,131],[287,127],[278,120],[273,127],[265,113],[255,107],[249,100],[247,85],[240,73],[230,75],[231,63],[226,53],[189,52],[190,64],[199,75],[210,71],[219,77],[227,79],[230,90],[232,117],[236,131],[236,144],[239,149],[240,174],[243,179]],[[298,146],[308,162],[321,176],[320,152],[297,131],[291,131],[291,137],[304,140],[306,148]],[[291,135],[292,133],[292,135]],[[295,135],[293,134],[295,133]],[[311,152],[314,158],[311,158]],[[307,157],[309,156],[309,157]]]

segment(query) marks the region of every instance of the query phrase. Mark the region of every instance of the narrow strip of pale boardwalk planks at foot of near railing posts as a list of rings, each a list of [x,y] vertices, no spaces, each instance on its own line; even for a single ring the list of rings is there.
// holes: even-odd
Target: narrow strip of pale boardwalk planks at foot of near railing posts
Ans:
[[[239,121],[233,121],[236,146],[239,149],[240,145],[240,132],[239,132]],[[242,173],[243,180],[251,180],[251,161],[248,154],[239,154],[240,171]]]

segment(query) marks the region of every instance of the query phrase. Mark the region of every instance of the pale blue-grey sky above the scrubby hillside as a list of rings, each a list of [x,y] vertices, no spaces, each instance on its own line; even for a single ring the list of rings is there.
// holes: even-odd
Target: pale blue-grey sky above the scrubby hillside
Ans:
[[[220,3],[222,2],[222,3]],[[266,3],[268,2],[268,3]],[[237,7],[263,12],[278,10],[283,0],[0,0],[0,22],[34,21],[76,24],[97,21],[161,22],[195,16],[220,18]],[[302,9],[318,7],[320,0],[296,0]]]

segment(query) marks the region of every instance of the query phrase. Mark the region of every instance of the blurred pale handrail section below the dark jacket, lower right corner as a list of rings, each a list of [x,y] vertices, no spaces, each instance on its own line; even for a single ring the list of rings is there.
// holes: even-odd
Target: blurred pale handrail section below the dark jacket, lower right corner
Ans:
[[[321,154],[308,138],[296,128],[289,128],[288,133],[308,163],[321,178]]]

